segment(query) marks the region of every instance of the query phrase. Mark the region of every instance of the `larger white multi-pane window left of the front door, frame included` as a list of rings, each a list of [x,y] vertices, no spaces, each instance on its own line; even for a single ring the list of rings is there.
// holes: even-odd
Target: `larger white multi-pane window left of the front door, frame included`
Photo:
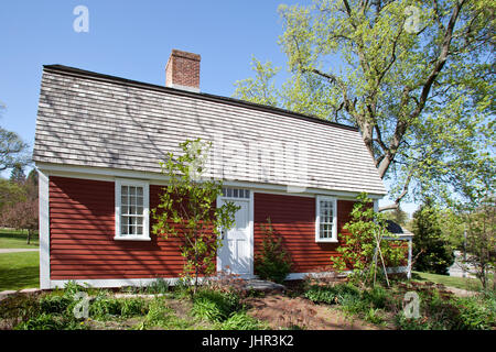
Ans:
[[[143,182],[116,182],[116,239],[149,240],[149,186]]]

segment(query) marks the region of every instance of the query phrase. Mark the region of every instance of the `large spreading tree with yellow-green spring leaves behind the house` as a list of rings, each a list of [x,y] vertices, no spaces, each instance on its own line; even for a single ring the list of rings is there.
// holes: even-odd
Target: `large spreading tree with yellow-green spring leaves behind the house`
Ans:
[[[235,96],[358,127],[389,209],[409,195],[494,186],[494,1],[322,0],[280,6],[288,80],[254,58]],[[453,197],[456,194],[456,197]]]

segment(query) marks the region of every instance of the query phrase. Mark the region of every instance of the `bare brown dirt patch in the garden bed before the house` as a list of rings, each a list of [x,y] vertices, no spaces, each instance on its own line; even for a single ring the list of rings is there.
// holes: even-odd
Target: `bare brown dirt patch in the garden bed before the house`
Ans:
[[[304,298],[271,295],[249,298],[252,308],[248,314],[267,321],[272,329],[298,326],[309,330],[378,330],[379,328],[359,319],[345,316],[337,308],[315,305]]]

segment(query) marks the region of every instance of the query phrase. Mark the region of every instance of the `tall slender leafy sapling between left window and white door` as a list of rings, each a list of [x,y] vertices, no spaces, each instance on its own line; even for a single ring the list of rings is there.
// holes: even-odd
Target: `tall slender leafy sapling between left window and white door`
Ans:
[[[160,165],[168,186],[162,188],[159,206],[152,209],[153,233],[181,241],[182,275],[193,282],[192,295],[198,277],[215,272],[220,229],[234,226],[238,210],[231,201],[215,207],[223,184],[204,177],[209,146],[197,139],[180,144],[182,155],[166,154]]]

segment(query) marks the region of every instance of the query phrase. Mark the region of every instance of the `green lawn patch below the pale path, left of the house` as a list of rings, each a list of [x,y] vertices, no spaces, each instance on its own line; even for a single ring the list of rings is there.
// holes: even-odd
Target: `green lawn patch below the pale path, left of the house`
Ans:
[[[0,254],[0,292],[40,287],[40,253]]]

